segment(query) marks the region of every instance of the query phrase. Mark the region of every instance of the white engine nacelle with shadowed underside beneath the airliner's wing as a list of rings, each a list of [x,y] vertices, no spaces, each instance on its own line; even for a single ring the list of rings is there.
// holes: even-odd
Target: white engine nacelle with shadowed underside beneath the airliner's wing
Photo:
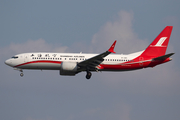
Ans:
[[[76,62],[62,62],[60,75],[76,75],[77,63]]]

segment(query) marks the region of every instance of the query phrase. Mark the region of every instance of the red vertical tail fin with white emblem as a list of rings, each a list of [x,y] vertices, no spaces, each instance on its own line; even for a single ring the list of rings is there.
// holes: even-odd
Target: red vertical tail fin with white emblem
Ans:
[[[141,54],[142,57],[158,57],[166,53],[173,26],[166,26],[164,30],[154,39],[154,41]]]

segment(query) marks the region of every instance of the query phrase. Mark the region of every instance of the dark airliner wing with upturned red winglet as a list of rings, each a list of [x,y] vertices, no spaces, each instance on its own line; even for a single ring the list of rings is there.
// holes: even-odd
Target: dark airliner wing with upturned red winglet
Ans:
[[[84,68],[84,69],[89,69],[89,70],[96,70],[96,66],[98,66],[100,63],[104,61],[104,57],[106,57],[110,53],[115,53],[114,52],[115,45],[116,45],[116,40],[106,52],[80,62],[78,63],[78,66],[81,69]]]

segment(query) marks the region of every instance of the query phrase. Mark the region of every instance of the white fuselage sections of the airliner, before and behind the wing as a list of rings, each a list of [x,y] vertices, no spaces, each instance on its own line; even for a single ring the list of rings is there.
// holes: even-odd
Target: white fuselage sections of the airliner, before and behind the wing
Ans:
[[[131,61],[141,52],[130,55],[115,54],[108,55],[104,58],[102,65],[116,65]],[[48,69],[60,70],[62,62],[79,63],[86,59],[92,58],[98,54],[83,54],[83,53],[23,53],[13,56],[5,61],[11,67],[20,69]]]

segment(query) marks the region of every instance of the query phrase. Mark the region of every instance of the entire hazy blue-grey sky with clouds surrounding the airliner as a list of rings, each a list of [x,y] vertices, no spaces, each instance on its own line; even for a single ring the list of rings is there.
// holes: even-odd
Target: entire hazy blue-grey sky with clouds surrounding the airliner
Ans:
[[[1,0],[1,120],[179,120],[180,1]],[[24,52],[117,53],[145,49],[174,26],[166,64],[130,72],[24,70],[4,64]]]

